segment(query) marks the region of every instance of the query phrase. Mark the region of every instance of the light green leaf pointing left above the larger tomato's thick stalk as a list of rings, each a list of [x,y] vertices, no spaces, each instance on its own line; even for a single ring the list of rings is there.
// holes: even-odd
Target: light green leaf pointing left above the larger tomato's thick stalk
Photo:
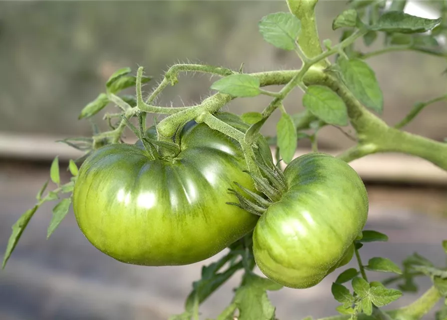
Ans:
[[[261,82],[249,74],[231,74],[223,77],[211,85],[211,89],[235,97],[256,96],[261,93]]]

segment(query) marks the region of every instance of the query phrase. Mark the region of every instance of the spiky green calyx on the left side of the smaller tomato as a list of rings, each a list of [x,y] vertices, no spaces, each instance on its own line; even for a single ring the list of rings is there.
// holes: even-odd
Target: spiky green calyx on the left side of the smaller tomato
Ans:
[[[262,173],[262,177],[249,171],[244,171],[245,173],[248,173],[257,183],[257,189],[262,193],[262,195],[259,195],[258,193],[243,187],[239,183],[234,182],[237,189],[240,191],[232,188],[229,188],[228,191],[230,194],[235,195],[239,202],[226,202],[227,204],[236,205],[252,214],[262,215],[270,204],[281,199],[282,194],[288,188],[286,178],[276,165],[271,162],[267,162],[265,159],[262,160],[263,163],[261,163],[258,159],[254,160]],[[244,193],[246,195],[244,195]]]

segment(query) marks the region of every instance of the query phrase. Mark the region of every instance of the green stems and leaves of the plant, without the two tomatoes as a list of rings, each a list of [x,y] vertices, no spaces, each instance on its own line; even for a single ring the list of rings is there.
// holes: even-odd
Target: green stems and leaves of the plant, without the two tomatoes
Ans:
[[[320,1],[320,3],[322,2]],[[417,102],[401,121],[391,127],[367,110],[381,114],[383,94],[374,71],[365,62],[365,59],[370,56],[403,49],[446,57],[447,51],[437,40],[437,36],[447,34],[446,21],[426,19],[404,13],[402,10],[406,4],[405,0],[392,0],[390,7],[386,7],[383,0],[351,0],[348,1],[347,10],[333,20],[333,29],[347,28],[342,32],[340,42],[334,44],[330,40],[324,40],[325,50],[322,51],[313,11],[315,3],[316,1],[288,0],[290,13],[268,14],[258,23],[259,31],[265,41],[277,48],[295,51],[290,54],[296,53],[301,60],[302,66],[298,70],[242,73],[242,67],[237,72],[205,64],[179,63],[173,65],[166,72],[165,78],[154,88],[146,102],[142,99],[141,85],[150,81],[151,77],[143,76],[142,68],[139,68],[137,76],[132,75],[132,70],[128,67],[115,71],[106,82],[105,93],[100,93],[95,100],[89,102],[79,115],[80,119],[91,118],[112,102],[118,106],[118,113],[106,113],[105,115],[110,130],[100,132],[94,125],[92,137],[61,140],[63,143],[84,151],[85,154],[80,159],[70,160],[68,170],[73,176],[66,183],[61,182],[59,158],[54,159],[50,168],[50,179],[56,184],[56,187],[47,191],[50,179],[47,180],[36,195],[37,203],[22,214],[13,225],[3,258],[3,267],[35,212],[43,203],[52,200],[58,200],[58,203],[53,208],[47,236],[49,237],[55,231],[69,211],[74,182],[78,178],[78,165],[99,147],[120,142],[126,127],[130,127],[141,139],[148,152],[153,151],[154,154],[159,155],[160,159],[165,155],[164,152],[176,154],[181,150],[177,139],[178,134],[182,131],[185,123],[191,120],[203,121],[222,134],[236,139],[242,148],[248,172],[253,177],[258,191],[263,193],[260,195],[251,192],[248,195],[261,203],[262,207],[261,205],[258,207],[264,211],[271,205],[271,199],[280,198],[280,192],[276,191],[283,191],[286,188],[286,183],[278,178],[278,176],[282,177],[282,172],[278,169],[280,165],[260,166],[259,159],[255,158],[254,152],[256,148],[259,148],[257,141],[262,126],[278,108],[281,115],[276,124],[276,136],[270,139],[272,144],[276,144],[274,147],[277,160],[281,157],[284,162],[289,163],[295,154],[297,140],[301,138],[309,138],[312,142],[312,149],[317,151],[317,132],[321,127],[328,124],[344,126],[350,123],[356,131],[356,144],[347,152],[339,155],[339,158],[346,162],[376,151],[392,150],[422,157],[447,169],[445,160],[447,159],[447,145],[445,143],[410,135],[399,130],[411,122],[426,106],[445,100],[447,98],[445,92],[431,100]],[[447,12],[445,1],[434,3],[439,6],[442,14]],[[231,13],[229,16],[233,15]],[[430,30],[431,33],[421,34]],[[356,47],[355,41],[360,38],[366,46],[371,46],[373,43],[379,45],[376,43],[379,32],[383,32],[384,35],[382,48],[363,52]],[[175,40],[170,40],[171,42],[177,44]],[[372,50],[372,48],[368,48],[368,50]],[[331,56],[336,56],[336,64],[330,63]],[[211,89],[223,94],[212,95],[191,107],[170,108],[153,105],[158,95],[168,85],[178,82],[179,73],[186,71],[220,76],[221,78],[211,85]],[[261,89],[266,85],[284,86],[279,92],[270,92]],[[120,91],[130,87],[136,87],[138,99],[135,95],[118,95]],[[305,107],[305,110],[299,113],[293,111],[288,114],[284,108],[284,101],[298,87],[305,91],[302,99],[302,106]],[[265,106],[262,113],[243,113],[240,119],[247,124],[246,126],[239,126],[242,123],[239,119],[240,123],[236,121],[239,123],[236,125],[236,122],[226,123],[213,115],[234,98],[254,97],[259,94],[270,96],[272,100]],[[169,136],[159,134],[156,138],[155,135],[146,137],[144,132],[146,131],[147,113],[167,114],[162,122],[167,123],[175,133],[168,134]],[[139,119],[139,128],[132,124],[134,117]],[[161,125],[157,124],[157,130],[160,127]],[[244,130],[241,130],[242,127]],[[269,200],[266,200],[267,197]],[[303,205],[305,204],[303,203]],[[258,211],[254,213],[259,214]],[[353,237],[355,235],[353,234]],[[335,316],[333,319],[349,317],[350,319],[368,320],[420,319],[434,306],[439,296],[447,296],[447,268],[435,266],[417,253],[406,258],[402,263],[402,268],[390,259],[383,257],[372,257],[366,265],[362,263],[359,249],[364,243],[387,240],[388,237],[385,234],[374,230],[363,230],[362,234],[355,238],[358,269],[344,270],[332,283],[331,292],[334,298],[341,303],[336,309],[342,314],[341,317]],[[268,278],[253,273],[255,261],[252,245],[252,234],[249,233],[241,240],[231,244],[229,252],[218,261],[204,266],[201,278],[193,283],[192,291],[188,295],[185,312],[172,316],[171,319],[198,319],[200,304],[238,270],[243,270],[241,284],[235,289],[231,303],[217,317],[217,320],[232,320],[234,317],[237,317],[238,320],[275,320],[275,307],[268,299],[267,291],[278,290],[281,286]],[[442,242],[442,247],[447,253],[447,240]],[[369,282],[366,271],[394,274],[381,282]],[[381,311],[381,307],[398,299],[402,295],[401,291],[417,291],[415,278],[418,276],[428,276],[433,282],[433,287],[409,307]],[[343,285],[349,281],[351,281],[353,292]],[[387,288],[386,285],[391,283],[396,283],[400,290]],[[446,319],[447,308],[444,306],[436,313],[436,320]]]

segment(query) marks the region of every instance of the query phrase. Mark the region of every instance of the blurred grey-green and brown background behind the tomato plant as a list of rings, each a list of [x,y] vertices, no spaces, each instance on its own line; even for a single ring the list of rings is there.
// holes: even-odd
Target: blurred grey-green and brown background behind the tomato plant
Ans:
[[[408,2],[411,14],[439,16],[428,1]],[[345,1],[320,0],[321,39],[338,41],[340,32],[332,31],[331,22],[344,7]],[[276,49],[257,31],[262,16],[286,10],[282,0],[0,1],[0,251],[6,248],[11,225],[34,205],[53,157],[67,161],[78,155],[53,141],[91,135],[91,124],[78,121],[78,114],[104,90],[113,71],[144,66],[146,74],[155,78],[145,86],[149,91],[162,79],[163,71],[178,61],[234,69],[244,63],[245,72],[298,68],[293,52]],[[368,50],[380,45],[379,39]],[[445,59],[394,52],[370,58],[368,63],[383,90],[383,118],[388,123],[400,120],[416,101],[446,91],[447,77],[441,74]],[[158,104],[197,103],[209,94],[211,82],[206,75],[181,76],[176,86],[163,92]],[[285,103],[290,113],[302,110],[296,91]],[[261,111],[268,102],[268,97],[236,99],[227,109],[239,114]],[[446,107],[445,101],[430,105],[406,129],[442,140],[447,136]],[[103,114],[94,121],[106,128]],[[274,134],[277,119],[274,114],[263,133]],[[352,144],[333,127],[323,128],[319,141],[322,150],[334,153]],[[309,144],[300,141],[298,147],[306,152]],[[418,251],[443,265],[445,172],[424,160],[399,155],[370,156],[352,165],[368,187],[367,228],[390,238],[388,243],[365,245],[363,259],[380,255],[399,262]],[[141,267],[115,261],[90,245],[73,212],[46,240],[52,205],[39,209],[0,272],[1,320],[159,320],[182,311],[202,263]],[[337,303],[329,289],[334,278],[330,275],[307,290],[272,292],[278,318],[335,314]],[[216,316],[229,303],[238,282],[239,276],[234,277],[203,305],[203,318]],[[422,289],[430,284],[428,280],[418,283]],[[414,298],[407,294],[392,307]],[[427,316],[432,318],[433,314]]]

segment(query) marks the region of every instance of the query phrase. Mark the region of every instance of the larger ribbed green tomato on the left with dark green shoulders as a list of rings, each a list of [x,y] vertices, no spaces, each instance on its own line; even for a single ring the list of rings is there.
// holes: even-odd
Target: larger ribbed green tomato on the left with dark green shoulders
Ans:
[[[228,123],[247,129],[238,118]],[[226,204],[237,181],[255,190],[239,144],[206,124],[188,124],[174,158],[151,159],[144,147],[111,144],[82,164],[73,194],[90,242],[123,262],[181,265],[206,259],[251,231],[258,216]],[[259,149],[271,158],[265,139]]]

